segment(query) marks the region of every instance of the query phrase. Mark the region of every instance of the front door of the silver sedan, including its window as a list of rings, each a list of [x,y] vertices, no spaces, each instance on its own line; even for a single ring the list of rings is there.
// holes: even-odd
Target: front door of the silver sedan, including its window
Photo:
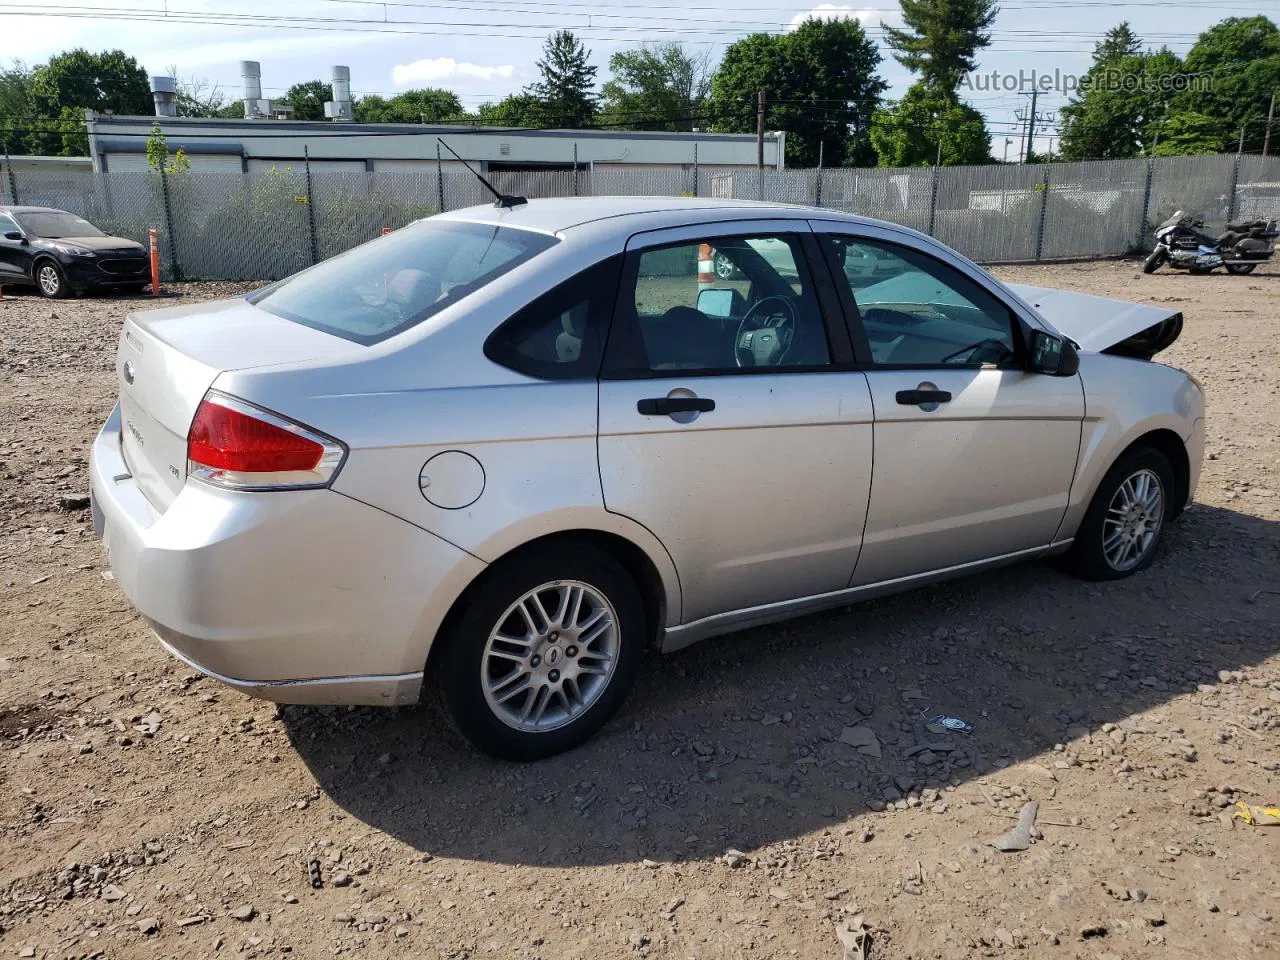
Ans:
[[[1029,372],[1024,324],[945,248],[814,224],[876,411],[876,468],[852,585],[1048,547],[1066,511],[1084,392]],[[854,279],[845,256],[895,269]]]

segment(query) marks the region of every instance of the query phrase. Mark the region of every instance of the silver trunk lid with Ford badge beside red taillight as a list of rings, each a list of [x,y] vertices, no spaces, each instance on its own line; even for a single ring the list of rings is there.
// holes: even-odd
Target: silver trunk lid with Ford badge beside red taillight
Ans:
[[[187,481],[187,430],[228,370],[338,357],[364,349],[273,316],[243,300],[133,314],[116,353],[120,444],[138,489],[160,511]]]

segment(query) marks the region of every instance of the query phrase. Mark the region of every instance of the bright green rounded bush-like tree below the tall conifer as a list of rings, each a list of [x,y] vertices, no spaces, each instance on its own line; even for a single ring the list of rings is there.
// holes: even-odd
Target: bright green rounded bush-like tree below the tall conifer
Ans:
[[[881,166],[928,166],[940,156],[943,166],[992,163],[982,114],[923,79],[876,111],[870,140]]]

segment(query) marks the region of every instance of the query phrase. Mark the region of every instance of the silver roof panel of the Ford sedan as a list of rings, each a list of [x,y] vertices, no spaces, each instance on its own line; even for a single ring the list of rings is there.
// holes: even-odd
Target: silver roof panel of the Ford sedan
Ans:
[[[608,227],[613,227],[618,233],[636,233],[663,227],[735,219],[845,220],[914,233],[899,224],[854,216],[837,210],[718,197],[549,197],[530,200],[515,207],[498,207],[493,204],[470,206],[440,214],[439,219],[493,223],[553,234],[591,225],[605,227],[604,221],[612,221]]]

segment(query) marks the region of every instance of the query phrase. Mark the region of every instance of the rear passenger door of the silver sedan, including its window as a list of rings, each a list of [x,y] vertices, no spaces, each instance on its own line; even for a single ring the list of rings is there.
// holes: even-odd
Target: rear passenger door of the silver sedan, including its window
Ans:
[[[708,247],[735,269],[700,273]],[[600,381],[600,483],[605,507],[671,554],[682,623],[842,589],[856,563],[870,393],[814,265],[799,220],[627,244]]]

